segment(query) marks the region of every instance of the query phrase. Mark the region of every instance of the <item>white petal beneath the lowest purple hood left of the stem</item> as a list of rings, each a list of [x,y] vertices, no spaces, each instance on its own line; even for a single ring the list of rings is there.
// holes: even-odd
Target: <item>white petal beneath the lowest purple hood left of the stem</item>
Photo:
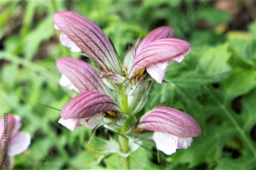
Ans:
[[[63,119],[60,118],[58,123],[65,126],[71,131],[76,130],[77,127],[86,125],[87,118],[70,118],[70,119]]]

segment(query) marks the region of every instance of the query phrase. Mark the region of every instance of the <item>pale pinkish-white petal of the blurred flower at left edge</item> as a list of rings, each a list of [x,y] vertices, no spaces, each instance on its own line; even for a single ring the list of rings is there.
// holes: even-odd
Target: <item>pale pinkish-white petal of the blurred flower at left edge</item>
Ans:
[[[30,135],[27,132],[18,132],[10,139],[9,155],[14,156],[26,151],[30,145]]]

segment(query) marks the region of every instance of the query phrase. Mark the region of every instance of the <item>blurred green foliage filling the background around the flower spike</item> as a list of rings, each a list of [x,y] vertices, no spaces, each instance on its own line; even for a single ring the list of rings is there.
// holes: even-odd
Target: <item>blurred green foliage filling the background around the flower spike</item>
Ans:
[[[242,3],[240,10],[247,10]],[[234,14],[216,8],[217,1],[0,1],[1,114],[22,117],[22,131],[32,137],[29,149],[14,157],[14,169],[120,169],[122,157],[101,154],[110,140],[95,138],[81,127],[71,132],[57,123],[72,96],[58,84],[55,58],[79,58],[58,41],[52,15],[70,10],[88,17],[108,35],[123,59],[142,34],[159,26],[173,27],[176,38],[191,43],[183,62],[170,63],[164,79],[155,84],[140,115],[166,102],[193,116],[202,135],[191,147],[171,156],[150,142],[131,155],[131,168],[255,169],[256,148],[256,22],[246,29],[230,28]],[[253,8],[253,7],[252,7]],[[248,11],[250,11],[248,9]],[[239,15],[239,13],[238,13]],[[242,23],[241,23],[242,24]],[[244,22],[243,22],[244,24]],[[2,117],[2,115],[0,116]],[[97,136],[109,138],[101,128]]]

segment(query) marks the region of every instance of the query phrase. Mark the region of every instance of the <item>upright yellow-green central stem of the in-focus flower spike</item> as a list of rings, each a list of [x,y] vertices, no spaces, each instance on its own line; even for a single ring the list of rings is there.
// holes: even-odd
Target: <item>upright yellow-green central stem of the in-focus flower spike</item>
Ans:
[[[129,113],[127,113],[128,110],[128,101],[127,101],[127,95],[125,94],[124,89],[122,89],[121,91],[121,109],[122,112],[129,115]],[[129,128],[129,121],[126,121],[124,126],[121,128],[121,134],[124,134],[126,132],[126,130]],[[130,151],[129,148],[129,139],[121,137],[121,147],[122,147],[122,152],[123,153],[128,153]],[[130,169],[130,159],[129,156],[127,158],[124,159],[124,165],[125,165],[125,169]]]

